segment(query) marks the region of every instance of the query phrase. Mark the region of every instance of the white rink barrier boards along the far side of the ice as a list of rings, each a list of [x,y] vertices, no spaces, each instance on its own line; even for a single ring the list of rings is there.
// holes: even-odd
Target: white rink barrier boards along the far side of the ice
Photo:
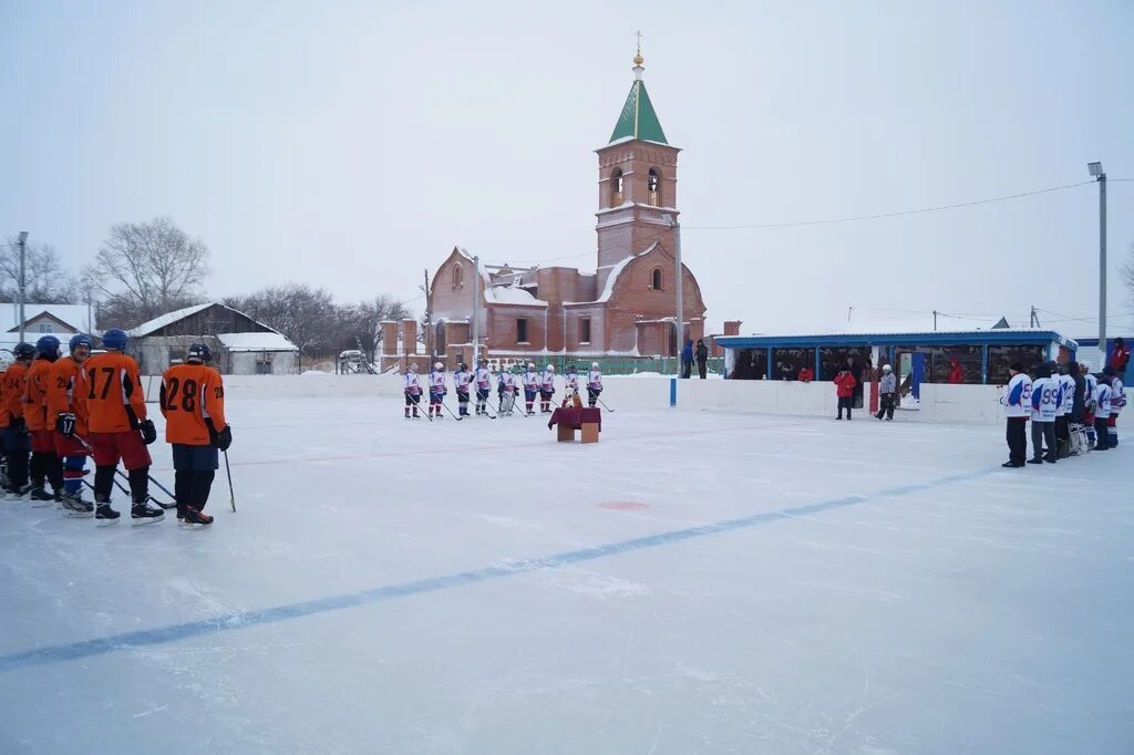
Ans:
[[[662,409],[669,407],[671,378],[608,376],[603,379],[602,400],[615,409]],[[161,378],[143,376],[146,398],[158,400]],[[400,398],[400,375],[227,375],[228,398],[330,398],[366,397]],[[998,385],[946,385],[926,383],[921,387],[921,405],[916,410],[898,408],[895,421],[971,422],[995,424],[1004,419]],[[557,397],[562,396],[562,388]],[[870,387],[866,387],[869,407]],[[585,398],[585,391],[584,391]],[[449,399],[456,400],[452,387]],[[496,389],[492,391],[496,400]],[[763,414],[810,415],[835,417],[838,413],[835,387],[830,382],[801,383],[779,380],[678,380],[677,406],[682,409],[759,412]],[[868,408],[856,409],[865,418]]]

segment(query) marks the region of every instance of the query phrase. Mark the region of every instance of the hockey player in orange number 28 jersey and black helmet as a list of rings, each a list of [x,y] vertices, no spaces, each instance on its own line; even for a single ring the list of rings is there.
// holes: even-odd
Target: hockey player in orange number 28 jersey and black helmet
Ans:
[[[185,524],[212,524],[204,508],[220,467],[217,450],[228,450],[232,443],[232,429],[225,419],[225,381],[209,366],[211,360],[209,347],[194,343],[185,364],[161,376],[166,442],[174,447],[177,518]]]

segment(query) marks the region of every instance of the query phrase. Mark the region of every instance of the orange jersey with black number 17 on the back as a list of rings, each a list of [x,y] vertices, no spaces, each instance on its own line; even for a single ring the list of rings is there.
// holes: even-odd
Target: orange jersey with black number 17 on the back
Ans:
[[[146,418],[138,363],[117,351],[95,354],[83,363],[78,402],[92,433],[124,433]]]

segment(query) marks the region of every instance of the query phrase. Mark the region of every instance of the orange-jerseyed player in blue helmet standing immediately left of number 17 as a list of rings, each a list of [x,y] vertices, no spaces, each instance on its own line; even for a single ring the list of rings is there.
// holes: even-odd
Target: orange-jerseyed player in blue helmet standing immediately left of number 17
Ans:
[[[67,345],[69,356],[61,357],[51,366],[48,382],[48,422],[54,429],[56,453],[62,459],[64,512],[73,517],[94,514],[94,506],[83,500],[87,450],[78,438],[86,439],[90,426],[76,396],[83,364],[91,356],[91,342],[86,333],[71,336]]]

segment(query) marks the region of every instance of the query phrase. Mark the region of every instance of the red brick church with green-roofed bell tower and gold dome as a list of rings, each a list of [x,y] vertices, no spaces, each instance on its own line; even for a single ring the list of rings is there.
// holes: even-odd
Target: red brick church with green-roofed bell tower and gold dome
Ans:
[[[675,356],[677,147],[654,112],[641,52],[618,122],[599,155],[594,272],[574,268],[481,264],[457,247],[431,289],[438,354],[472,356],[472,317],[484,356],[524,354]],[[704,334],[704,300],[683,265],[683,333]],[[480,298],[474,305],[473,297]]]

